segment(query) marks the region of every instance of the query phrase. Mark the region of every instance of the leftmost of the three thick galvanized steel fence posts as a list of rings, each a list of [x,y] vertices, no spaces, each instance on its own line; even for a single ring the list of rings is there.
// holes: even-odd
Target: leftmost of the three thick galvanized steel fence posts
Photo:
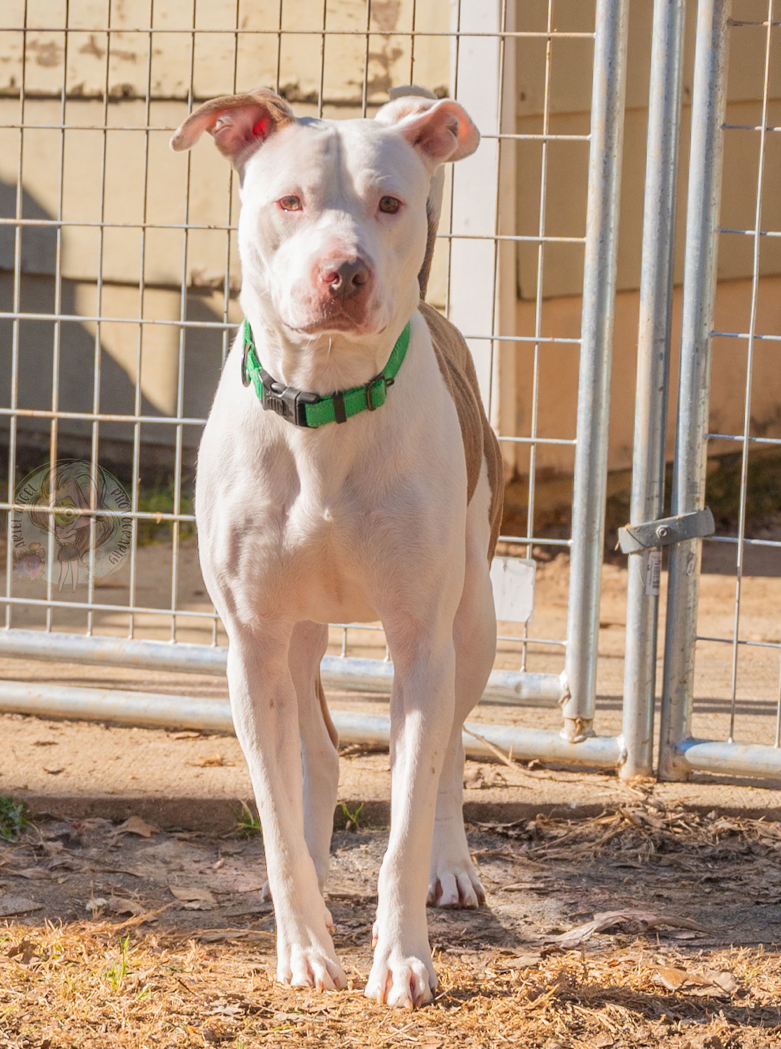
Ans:
[[[597,0],[562,734],[592,733],[607,491],[628,0]]]

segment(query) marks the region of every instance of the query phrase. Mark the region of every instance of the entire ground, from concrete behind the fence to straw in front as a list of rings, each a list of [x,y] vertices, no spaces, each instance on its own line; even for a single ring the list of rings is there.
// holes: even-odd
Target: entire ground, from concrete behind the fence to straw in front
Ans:
[[[730,637],[735,580],[729,564],[706,568],[699,630]],[[167,603],[171,569],[168,548],[141,548],[139,603]],[[620,730],[626,585],[626,568],[606,564],[596,719],[606,734]],[[566,555],[541,565],[531,637],[565,637],[568,586]],[[127,601],[126,581],[98,596]],[[208,621],[188,615],[209,608],[190,542],[177,602],[176,636],[208,643]],[[779,608],[781,576],[748,576],[741,638],[781,641]],[[40,617],[15,609],[14,625],[40,625]],[[85,624],[77,609],[55,615],[57,629]],[[97,634],[127,626],[121,612],[92,622]],[[171,636],[170,618],[140,614],[135,627],[141,637]],[[501,629],[497,665],[518,668],[521,628]],[[332,652],[341,642],[334,630]],[[351,629],[347,644],[351,655],[384,654],[376,630]],[[699,644],[694,732],[724,738],[732,650]],[[558,672],[563,648],[532,642],[526,665]],[[227,694],[220,678],[14,659],[0,661],[0,677]],[[773,743],[778,701],[777,649],[741,646],[736,737]],[[329,702],[381,712],[387,700],[331,692]],[[550,708],[481,705],[470,720],[560,726]],[[353,748],[342,761],[345,813],[329,905],[351,986],[316,994],[273,980],[261,843],[236,831],[251,792],[234,738],[16,714],[0,714],[0,794],[24,798],[34,823],[0,843],[0,1049],[781,1044],[781,794],[773,784],[698,776],[627,787],[607,774],[467,763],[469,840],[488,905],[429,909],[440,992],[409,1015],[361,993],[386,839],[386,754]],[[357,829],[345,831],[361,805]]]

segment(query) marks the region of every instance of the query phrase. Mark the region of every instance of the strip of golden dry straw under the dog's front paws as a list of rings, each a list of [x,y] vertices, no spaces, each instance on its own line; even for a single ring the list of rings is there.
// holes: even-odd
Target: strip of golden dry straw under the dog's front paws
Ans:
[[[737,1049],[781,1039],[781,956],[761,949],[609,951],[524,958],[438,951],[441,988],[415,1014],[347,991],[276,985],[270,937],[207,944],[107,923],[6,927],[0,1046],[664,1046]],[[10,956],[10,957],[9,957]],[[368,952],[346,956],[366,970]],[[670,973],[690,976],[677,991]],[[702,973],[729,973],[734,989]],[[701,982],[700,982],[701,981]],[[731,986],[727,984],[727,986]]]

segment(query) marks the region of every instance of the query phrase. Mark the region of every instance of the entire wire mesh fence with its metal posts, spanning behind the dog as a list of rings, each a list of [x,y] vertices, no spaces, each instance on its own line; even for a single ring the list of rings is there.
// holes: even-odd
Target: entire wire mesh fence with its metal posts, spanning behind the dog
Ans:
[[[663,127],[664,114],[678,112],[689,52],[682,0],[654,6],[662,14],[675,9],[679,19],[677,26],[668,23],[667,37],[655,21],[649,38],[657,63],[651,121]],[[779,12],[778,0],[735,0],[727,26],[729,7],[725,0],[700,0],[696,20],[723,22],[721,36],[708,45],[700,79],[692,81],[695,131],[699,125],[713,134],[693,146],[688,207],[690,231],[699,218],[700,245],[719,223],[719,270],[715,252],[697,256],[690,233],[681,376],[685,384],[690,362],[691,382],[681,403],[691,397],[697,410],[680,424],[679,433],[688,436],[678,442],[673,488],[676,512],[713,504],[717,530],[703,543],[701,579],[702,540],[671,547],[666,774],[680,771],[679,745],[692,732],[711,738],[723,722],[725,741],[778,748],[781,726],[781,641],[763,612],[762,579],[753,575],[772,575],[781,557],[781,539],[767,523],[774,511],[755,512],[781,445],[765,404],[781,339],[774,276],[781,264],[774,193],[781,160]],[[650,769],[663,577],[659,587],[658,573],[652,578],[642,571],[636,593],[630,590],[622,738],[616,715],[624,652],[619,643],[605,643],[605,628],[615,624],[603,624],[600,635],[599,604],[628,12],[627,0],[3,5],[3,651],[63,658],[63,645],[70,645],[85,661],[122,662],[131,652],[136,666],[219,671],[226,638],[197,565],[192,484],[200,429],[240,321],[238,196],[214,151],[171,153],[171,129],[193,105],[260,84],[282,93],[298,115],[336,119],[371,117],[389,89],[424,84],[441,97],[457,97],[483,140],[474,157],[447,173],[428,299],[466,336],[501,442],[511,498],[500,553],[532,559],[549,573],[543,573],[534,618],[500,624],[497,672],[510,676],[502,679],[502,694],[562,703],[566,734],[582,747],[570,759],[610,765],[629,752],[625,769]],[[692,30],[694,23],[689,20]],[[727,38],[739,57],[729,65]],[[668,53],[671,39],[677,50]],[[660,91],[664,82],[675,86],[667,109],[654,117],[654,83]],[[640,94],[633,90],[636,99],[647,86]],[[727,99],[725,115],[709,123]],[[688,101],[684,90],[684,109]],[[685,120],[682,127],[685,134]],[[713,206],[722,151],[730,185],[743,189],[731,190],[719,219]],[[657,252],[657,262],[663,261],[667,253],[668,264],[654,271],[643,255],[649,283],[640,288],[640,316],[643,302],[647,316],[666,314],[669,350],[675,230],[673,222],[653,233],[652,219],[662,198],[674,205],[678,158],[674,150],[660,156],[649,149],[648,156],[643,252],[658,237],[649,259]],[[744,177],[750,160],[756,171],[751,192]],[[699,189],[692,188],[692,171]],[[649,298],[653,274],[659,278],[662,271],[668,290]],[[562,308],[568,296],[571,303]],[[711,345],[713,382],[738,391],[740,425],[736,411],[724,410],[723,397],[713,400],[710,421],[701,415],[706,401],[698,397],[710,378],[702,361],[710,361]],[[576,390],[569,400],[565,386]],[[641,397],[639,407],[653,413],[659,407],[654,397]],[[646,464],[647,488],[660,473],[653,481],[661,486],[659,506],[663,415],[662,405],[651,433],[658,454]],[[649,433],[637,432],[639,477],[638,448]],[[725,486],[740,493],[735,527],[729,515],[719,519]],[[70,493],[70,510],[63,510],[57,492]],[[640,502],[635,522],[643,519]],[[660,512],[651,512],[652,502],[645,504],[646,519]],[[38,531],[29,527],[36,514]],[[561,554],[567,563],[556,573]],[[759,570],[757,559],[764,559]],[[656,555],[650,560],[660,563]],[[622,595],[614,598],[613,604],[622,601]],[[90,647],[90,639],[99,647]],[[161,642],[173,643],[167,656],[154,647]],[[147,643],[152,648],[144,648]],[[342,667],[334,669],[333,682],[349,684],[352,675],[359,687],[374,682],[386,688],[387,675],[378,667],[387,655],[378,624],[332,624],[330,658]],[[589,750],[582,744],[594,721],[597,668],[603,686],[608,671],[612,682],[614,734]],[[674,681],[685,684],[676,691]],[[771,707],[776,718],[768,735]],[[556,738],[544,733],[534,753],[557,752]]]

